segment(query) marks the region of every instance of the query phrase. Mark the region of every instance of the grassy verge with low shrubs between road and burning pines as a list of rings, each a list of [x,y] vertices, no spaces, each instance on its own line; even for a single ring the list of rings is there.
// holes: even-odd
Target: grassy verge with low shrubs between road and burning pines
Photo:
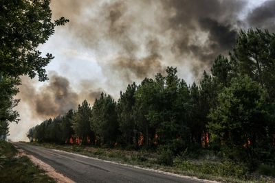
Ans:
[[[261,175],[259,172],[248,173],[245,165],[229,160],[221,160],[212,154],[204,154],[204,156],[196,159],[182,156],[171,159],[170,155],[165,154],[165,152],[157,153],[156,151],[148,150],[128,151],[125,149],[56,145],[52,143],[32,143],[32,145],[40,145],[102,160],[132,164],[179,175],[194,176],[200,179],[217,180],[218,182],[275,182],[275,178],[271,176]],[[172,162],[170,162],[171,160]]]

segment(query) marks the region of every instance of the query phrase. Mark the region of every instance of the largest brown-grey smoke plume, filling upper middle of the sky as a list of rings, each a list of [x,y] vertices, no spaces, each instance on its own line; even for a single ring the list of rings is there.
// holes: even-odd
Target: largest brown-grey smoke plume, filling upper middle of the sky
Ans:
[[[238,15],[246,3],[54,0],[52,9],[54,16],[70,19],[68,32],[80,45],[96,51],[102,70],[113,66],[113,70],[122,72],[107,77],[116,75],[129,81],[131,75],[142,79],[152,72],[161,73],[168,65],[188,64],[194,77],[199,77],[219,53],[232,48]],[[104,58],[112,54],[111,60]]]

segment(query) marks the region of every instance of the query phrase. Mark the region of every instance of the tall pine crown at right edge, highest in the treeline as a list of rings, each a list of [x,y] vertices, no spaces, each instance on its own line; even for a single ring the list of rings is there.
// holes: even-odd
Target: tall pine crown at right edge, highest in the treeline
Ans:
[[[267,88],[270,97],[275,96],[275,34],[260,29],[241,30],[236,38],[232,61],[240,75]]]

